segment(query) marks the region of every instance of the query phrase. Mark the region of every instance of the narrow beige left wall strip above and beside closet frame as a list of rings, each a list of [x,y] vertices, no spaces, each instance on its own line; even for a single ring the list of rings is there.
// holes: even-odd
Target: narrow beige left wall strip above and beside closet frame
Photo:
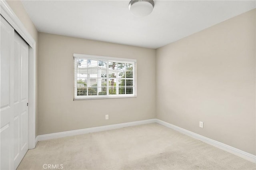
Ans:
[[[25,26],[26,30],[29,32],[29,34],[34,38],[36,42],[36,65],[37,65],[37,59],[38,59],[38,31],[36,27],[34,26],[32,20],[28,16],[25,8],[23,7],[22,3],[20,0],[7,0],[6,1],[8,5],[12,8],[16,16],[20,19],[22,24]],[[37,67],[36,67],[37,68]],[[37,74],[37,70],[36,70]],[[37,77],[37,76],[36,76]],[[38,114],[37,114],[37,80],[36,80],[36,136],[37,136],[37,119],[38,119]]]

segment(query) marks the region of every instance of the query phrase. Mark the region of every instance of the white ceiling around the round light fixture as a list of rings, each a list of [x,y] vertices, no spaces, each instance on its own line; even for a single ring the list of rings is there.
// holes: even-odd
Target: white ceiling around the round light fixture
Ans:
[[[39,32],[158,48],[256,8],[256,1],[155,0],[135,17],[129,0],[22,0]]]

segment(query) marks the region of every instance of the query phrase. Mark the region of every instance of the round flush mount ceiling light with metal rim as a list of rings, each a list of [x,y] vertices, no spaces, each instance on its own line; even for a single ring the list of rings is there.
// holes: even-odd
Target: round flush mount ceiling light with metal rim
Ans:
[[[134,16],[147,16],[153,8],[153,0],[131,0],[129,3],[129,10]]]

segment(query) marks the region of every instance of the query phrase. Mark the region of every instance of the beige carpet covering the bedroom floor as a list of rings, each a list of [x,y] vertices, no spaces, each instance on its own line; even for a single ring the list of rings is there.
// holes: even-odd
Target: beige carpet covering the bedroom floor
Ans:
[[[156,123],[40,141],[18,169],[44,164],[65,170],[256,170],[252,162]]]

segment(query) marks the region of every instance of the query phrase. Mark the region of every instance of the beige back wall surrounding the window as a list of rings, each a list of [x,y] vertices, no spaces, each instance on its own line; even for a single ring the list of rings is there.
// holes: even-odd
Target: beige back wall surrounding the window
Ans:
[[[156,118],[154,49],[46,33],[39,47],[38,134]],[[73,101],[73,53],[137,59],[137,97]]]

